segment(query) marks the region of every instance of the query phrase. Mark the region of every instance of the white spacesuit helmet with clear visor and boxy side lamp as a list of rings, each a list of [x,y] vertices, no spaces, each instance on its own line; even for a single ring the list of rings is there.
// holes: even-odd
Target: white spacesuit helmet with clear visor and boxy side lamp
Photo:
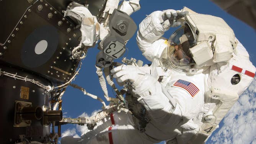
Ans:
[[[236,44],[233,30],[222,18],[192,12],[171,34],[162,56],[169,68],[199,74],[213,64],[229,61]]]

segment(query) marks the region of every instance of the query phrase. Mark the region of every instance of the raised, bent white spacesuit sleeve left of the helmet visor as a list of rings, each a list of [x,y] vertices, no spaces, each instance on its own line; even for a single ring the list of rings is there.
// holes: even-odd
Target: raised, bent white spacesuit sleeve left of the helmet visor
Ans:
[[[163,38],[162,35],[170,27],[164,28],[162,26],[162,14],[163,11],[154,11],[139,24],[136,37],[137,44],[143,56],[149,61],[159,58],[166,48],[167,39]]]

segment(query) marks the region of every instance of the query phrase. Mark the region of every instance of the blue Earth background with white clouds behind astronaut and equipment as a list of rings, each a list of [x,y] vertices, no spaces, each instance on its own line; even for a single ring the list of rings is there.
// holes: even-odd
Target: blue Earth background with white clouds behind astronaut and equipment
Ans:
[[[250,60],[256,65],[256,33],[255,30],[237,18],[229,15],[217,5],[209,0],[141,0],[141,10],[133,13],[131,17],[137,24],[156,10],[181,10],[184,6],[194,10],[197,13],[219,16],[233,29],[236,38],[245,46],[250,55]],[[238,10],[239,11],[239,10]],[[243,13],[243,11],[240,11]],[[165,38],[169,38],[176,28],[171,28],[164,34]],[[141,54],[136,44],[135,36],[130,39],[126,47],[128,51],[124,54],[127,58],[140,59],[144,64],[149,64]],[[98,49],[91,48],[87,53],[87,57],[82,62],[82,69],[73,83],[83,87],[87,92],[103,97],[103,91],[98,82],[98,76],[95,73],[95,61]],[[117,60],[120,62],[120,60]],[[207,144],[256,144],[256,79],[253,80],[239,98],[238,102],[231,108],[223,121],[219,124],[220,128],[213,132],[212,136],[206,142]],[[115,96],[112,89],[108,87],[108,94]],[[64,97],[62,98],[62,110],[65,117],[77,118],[79,116],[91,116],[101,109],[102,104],[94,100],[77,89],[68,87]],[[78,126],[67,124],[62,126],[62,136],[72,135],[81,136],[87,130],[86,126]],[[164,143],[164,142],[162,142]]]

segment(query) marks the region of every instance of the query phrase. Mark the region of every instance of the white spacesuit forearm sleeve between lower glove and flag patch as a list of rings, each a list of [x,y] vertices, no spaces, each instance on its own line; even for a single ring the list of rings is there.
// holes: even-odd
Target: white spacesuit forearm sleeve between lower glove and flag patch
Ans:
[[[170,95],[164,93],[163,88],[154,77],[147,74],[146,79],[133,90],[133,93],[154,121],[162,124],[171,121],[172,124],[178,124],[181,109],[174,99],[168,97]]]

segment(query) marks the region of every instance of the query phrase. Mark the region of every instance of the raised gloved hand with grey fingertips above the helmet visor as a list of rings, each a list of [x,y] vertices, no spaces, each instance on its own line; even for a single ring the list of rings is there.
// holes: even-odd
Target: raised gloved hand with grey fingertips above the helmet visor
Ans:
[[[164,13],[162,14],[162,22],[163,27],[171,26],[171,27],[177,27],[181,25],[181,22],[177,21],[180,18],[184,17],[186,14],[188,14],[188,11],[181,11],[181,10],[164,10]]]

